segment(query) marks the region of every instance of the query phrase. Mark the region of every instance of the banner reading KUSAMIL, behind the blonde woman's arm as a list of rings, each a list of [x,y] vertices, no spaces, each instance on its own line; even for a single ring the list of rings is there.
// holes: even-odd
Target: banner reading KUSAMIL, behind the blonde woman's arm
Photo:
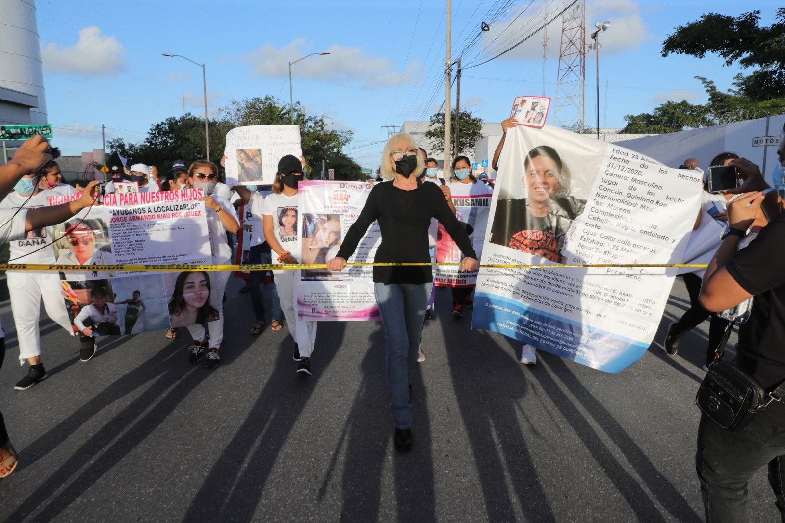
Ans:
[[[493,191],[485,183],[452,182],[450,187],[452,203],[455,205],[455,217],[466,227],[469,240],[472,242],[477,256],[481,256],[485,242],[485,227],[488,220],[488,209],[491,208]],[[438,224],[436,234],[436,262],[460,263],[463,255],[450,234]],[[433,285],[437,287],[473,287],[476,285],[477,272],[461,272],[457,266],[437,265],[433,269]]]

